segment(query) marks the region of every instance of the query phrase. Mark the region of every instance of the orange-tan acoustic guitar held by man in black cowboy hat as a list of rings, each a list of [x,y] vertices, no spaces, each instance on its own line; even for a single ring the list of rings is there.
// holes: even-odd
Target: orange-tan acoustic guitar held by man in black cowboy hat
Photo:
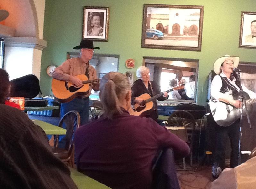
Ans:
[[[88,80],[88,77],[84,74],[75,76],[79,78],[84,84],[82,87],[75,87],[71,82],[60,81],[53,79],[52,91],[54,97],[57,98],[58,102],[70,102],[77,96],[87,95],[89,93],[89,84],[99,83],[99,79]]]

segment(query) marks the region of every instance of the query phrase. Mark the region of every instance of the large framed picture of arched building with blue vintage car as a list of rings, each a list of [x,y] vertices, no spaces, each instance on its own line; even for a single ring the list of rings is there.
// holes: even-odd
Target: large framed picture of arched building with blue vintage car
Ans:
[[[144,4],[142,48],[201,51],[203,6]]]

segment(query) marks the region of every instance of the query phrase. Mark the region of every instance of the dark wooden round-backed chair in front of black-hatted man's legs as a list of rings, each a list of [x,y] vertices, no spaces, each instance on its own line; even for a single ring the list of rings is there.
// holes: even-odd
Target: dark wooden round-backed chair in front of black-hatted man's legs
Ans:
[[[60,158],[62,162],[69,167],[74,167],[74,131],[78,129],[80,125],[80,115],[77,111],[70,111],[66,113],[60,120],[59,127],[66,126],[67,133],[65,135],[65,148],[59,148],[59,135],[56,136],[54,147],[52,147],[55,156]]]

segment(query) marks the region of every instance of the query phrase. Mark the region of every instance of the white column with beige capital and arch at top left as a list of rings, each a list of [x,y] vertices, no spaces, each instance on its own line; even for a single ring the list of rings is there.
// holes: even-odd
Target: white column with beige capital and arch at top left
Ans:
[[[4,33],[4,68],[10,79],[35,74],[40,79],[45,0],[10,0],[1,4],[9,11]],[[19,16],[23,15],[23,16]],[[25,16],[24,16],[25,15]]]

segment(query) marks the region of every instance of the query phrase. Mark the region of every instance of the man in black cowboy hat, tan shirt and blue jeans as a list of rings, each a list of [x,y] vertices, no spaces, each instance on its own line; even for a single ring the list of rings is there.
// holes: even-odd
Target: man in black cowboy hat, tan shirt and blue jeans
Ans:
[[[75,87],[79,88],[82,87],[83,84],[82,81],[75,76],[85,74],[89,80],[97,79],[96,70],[89,65],[89,60],[93,57],[94,49],[100,48],[94,47],[92,40],[81,40],[80,45],[73,49],[80,49],[80,56],[63,62],[61,66],[53,71],[52,77],[62,81],[69,81],[73,83]],[[91,84],[87,95],[78,96],[70,102],[62,103],[61,117],[71,110],[76,110],[80,114],[81,125],[84,125],[89,117],[89,95],[91,94],[92,89],[94,91],[99,91],[99,84]]]

